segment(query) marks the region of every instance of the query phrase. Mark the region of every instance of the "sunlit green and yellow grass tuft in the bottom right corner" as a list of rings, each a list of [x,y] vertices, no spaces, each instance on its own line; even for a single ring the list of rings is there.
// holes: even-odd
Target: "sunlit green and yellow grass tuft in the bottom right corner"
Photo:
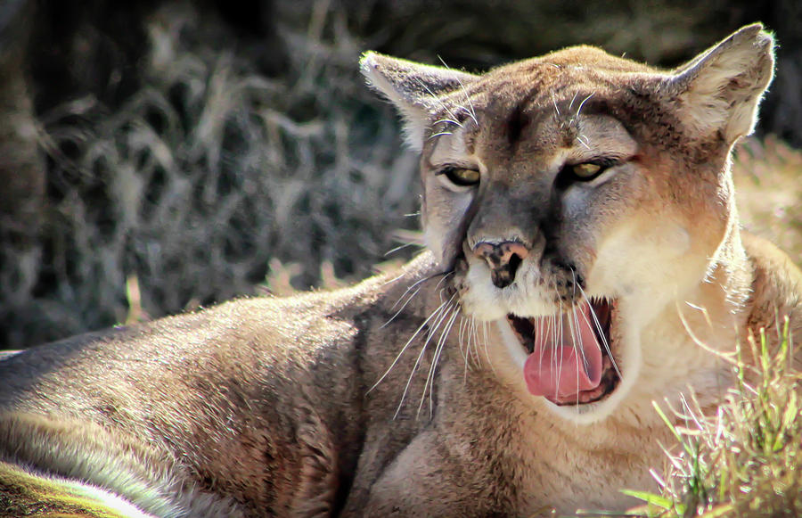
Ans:
[[[788,321],[772,349],[765,332],[739,346],[733,388],[715,415],[686,401],[656,405],[674,433],[660,493],[627,491],[645,505],[629,514],[687,518],[802,515],[800,374]],[[682,422],[683,425],[675,423]]]

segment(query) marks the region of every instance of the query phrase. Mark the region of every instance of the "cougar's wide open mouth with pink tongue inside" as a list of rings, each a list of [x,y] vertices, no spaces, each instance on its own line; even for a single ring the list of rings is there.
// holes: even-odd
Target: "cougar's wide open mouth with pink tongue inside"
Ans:
[[[614,302],[593,299],[549,317],[507,315],[528,352],[529,392],[562,406],[594,403],[615,391],[621,376],[610,340],[614,310]]]

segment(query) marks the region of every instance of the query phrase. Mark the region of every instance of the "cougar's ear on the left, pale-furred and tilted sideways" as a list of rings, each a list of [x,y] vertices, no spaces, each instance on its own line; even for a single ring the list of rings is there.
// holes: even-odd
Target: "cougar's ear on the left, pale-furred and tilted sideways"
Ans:
[[[359,68],[368,85],[396,105],[404,117],[406,143],[415,151],[421,151],[430,116],[442,106],[439,97],[477,79],[466,72],[421,65],[374,52],[364,53]]]

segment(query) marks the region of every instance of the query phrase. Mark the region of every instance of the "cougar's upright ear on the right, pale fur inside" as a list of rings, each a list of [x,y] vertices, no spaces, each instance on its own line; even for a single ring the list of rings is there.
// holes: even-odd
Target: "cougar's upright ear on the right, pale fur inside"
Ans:
[[[773,37],[756,23],[734,32],[667,78],[683,122],[700,137],[720,131],[728,144],[749,135],[772,81]]]

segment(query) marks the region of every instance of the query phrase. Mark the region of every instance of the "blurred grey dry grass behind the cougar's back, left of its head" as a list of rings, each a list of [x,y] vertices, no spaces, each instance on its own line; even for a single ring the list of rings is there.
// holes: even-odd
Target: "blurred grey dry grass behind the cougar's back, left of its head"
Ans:
[[[188,4],[168,3],[149,31],[145,86],[119,109],[85,97],[40,120],[50,207],[42,256],[9,261],[32,273],[0,283],[8,348],[266,279],[287,291],[362,278],[397,247],[396,229],[417,226],[405,217],[417,159],[364,86],[343,13],[286,29],[287,70],[274,78]],[[31,275],[33,293],[18,280]]]

